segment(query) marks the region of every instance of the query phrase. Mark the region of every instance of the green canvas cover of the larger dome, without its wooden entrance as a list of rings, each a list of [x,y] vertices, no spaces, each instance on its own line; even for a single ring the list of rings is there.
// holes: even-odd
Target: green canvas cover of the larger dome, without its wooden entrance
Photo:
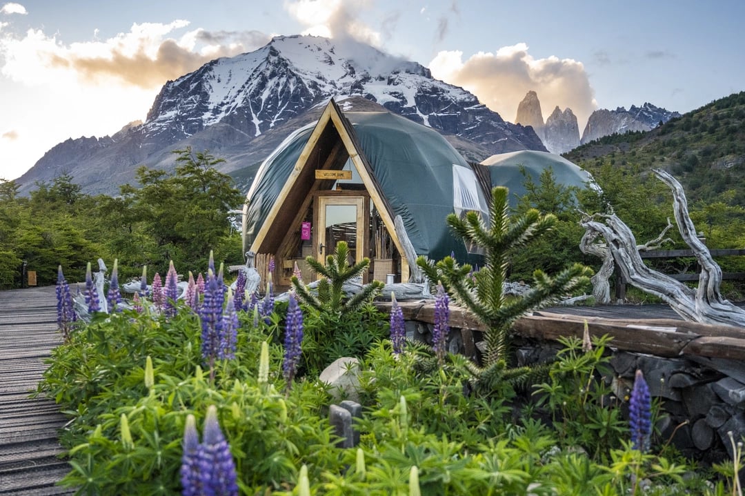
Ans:
[[[350,155],[364,156],[370,168],[365,174],[372,177],[387,203],[377,205],[378,209],[388,209],[391,217],[402,217],[416,254],[439,260],[454,252],[461,261],[469,258],[463,242],[454,238],[446,225],[446,216],[466,210],[486,215],[488,204],[463,156],[437,131],[391,112],[344,112],[343,117],[354,130],[350,134],[357,150]],[[252,246],[256,240],[293,171],[297,175],[297,168],[305,166],[299,159],[316,125],[285,139],[259,168],[247,194],[244,246]],[[354,171],[353,182],[361,182],[350,163],[348,160],[344,168]]]

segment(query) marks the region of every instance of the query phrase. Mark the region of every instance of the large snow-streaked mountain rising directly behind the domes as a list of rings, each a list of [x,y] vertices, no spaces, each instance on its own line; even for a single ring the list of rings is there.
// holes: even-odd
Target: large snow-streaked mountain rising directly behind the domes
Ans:
[[[172,168],[172,150],[191,146],[226,160],[221,171],[258,167],[308,112],[335,98],[358,96],[439,130],[466,158],[545,150],[530,127],[505,122],[466,90],[431,77],[418,63],[358,42],[279,36],[259,50],[206,63],[168,81],[143,124],[114,136],[67,140],[18,179],[72,174],[88,193],[115,194],[136,168]],[[250,172],[241,173],[244,178]]]

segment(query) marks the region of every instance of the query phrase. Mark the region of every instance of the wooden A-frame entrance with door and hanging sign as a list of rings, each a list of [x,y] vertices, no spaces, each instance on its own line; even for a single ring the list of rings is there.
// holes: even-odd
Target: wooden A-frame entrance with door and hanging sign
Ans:
[[[348,161],[360,179],[358,184],[337,183],[338,178],[352,173],[343,170]],[[337,188],[332,190],[334,185]],[[386,265],[390,259],[381,257],[381,250],[377,249],[386,245],[382,237],[390,246],[382,252],[396,256],[400,280],[408,281],[409,265],[405,256],[400,255],[404,250],[396,236],[390,204],[361,150],[354,127],[331,100],[250,249],[257,254],[273,255],[277,267],[273,278],[276,284],[285,285],[294,263],[306,255],[314,255],[323,262],[332,253],[336,241],[345,239],[353,261],[367,256],[373,261],[375,279],[384,281],[382,278],[388,272],[396,273],[396,270]],[[302,244],[299,240],[303,240]],[[311,280],[308,276],[304,273],[303,280]]]

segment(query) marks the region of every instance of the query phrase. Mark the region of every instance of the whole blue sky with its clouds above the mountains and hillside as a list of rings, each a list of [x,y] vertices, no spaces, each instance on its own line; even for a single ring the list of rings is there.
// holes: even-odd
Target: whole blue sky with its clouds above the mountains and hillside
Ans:
[[[0,179],[66,139],[145,121],[168,80],[312,34],[427,66],[514,122],[650,102],[689,112],[745,90],[745,1],[0,0]]]

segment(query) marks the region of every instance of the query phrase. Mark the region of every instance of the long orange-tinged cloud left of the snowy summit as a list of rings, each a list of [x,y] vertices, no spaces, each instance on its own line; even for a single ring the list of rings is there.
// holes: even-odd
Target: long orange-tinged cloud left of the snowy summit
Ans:
[[[114,83],[159,87],[217,57],[232,57],[259,48],[270,37],[258,31],[186,31],[187,21],[134,24],[130,32],[110,39],[63,45],[41,30],[24,36],[0,36],[0,73],[27,84],[75,80],[91,86]]]

